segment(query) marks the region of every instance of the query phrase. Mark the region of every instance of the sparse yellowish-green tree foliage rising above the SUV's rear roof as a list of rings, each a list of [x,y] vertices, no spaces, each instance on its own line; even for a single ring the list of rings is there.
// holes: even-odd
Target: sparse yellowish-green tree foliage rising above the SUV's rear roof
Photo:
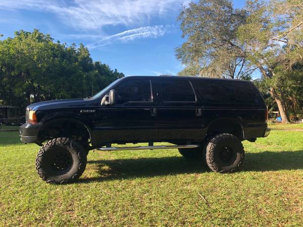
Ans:
[[[236,33],[245,18],[245,10],[233,9],[229,0],[201,0],[184,8],[178,20],[182,37],[187,40],[176,48],[176,56],[187,67],[180,75],[227,78],[250,75],[254,70],[243,58]]]

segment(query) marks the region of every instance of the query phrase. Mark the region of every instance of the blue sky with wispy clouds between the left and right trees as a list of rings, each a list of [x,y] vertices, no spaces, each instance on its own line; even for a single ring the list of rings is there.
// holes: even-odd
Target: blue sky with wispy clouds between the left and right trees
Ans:
[[[176,18],[189,0],[0,0],[0,34],[37,28],[61,42],[83,43],[94,61],[126,76],[176,75],[182,65]],[[244,1],[234,0],[234,6]]]

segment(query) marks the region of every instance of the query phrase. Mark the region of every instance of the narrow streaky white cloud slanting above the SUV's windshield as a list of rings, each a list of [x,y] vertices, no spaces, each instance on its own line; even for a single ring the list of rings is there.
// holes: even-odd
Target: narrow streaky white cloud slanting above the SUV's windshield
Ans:
[[[110,44],[116,40],[128,42],[138,38],[157,38],[168,33],[172,27],[172,25],[145,26],[136,29],[126,30],[114,35],[99,36],[100,39],[98,41],[88,44],[87,47],[92,49]],[[95,35],[92,35],[91,37],[96,38]]]

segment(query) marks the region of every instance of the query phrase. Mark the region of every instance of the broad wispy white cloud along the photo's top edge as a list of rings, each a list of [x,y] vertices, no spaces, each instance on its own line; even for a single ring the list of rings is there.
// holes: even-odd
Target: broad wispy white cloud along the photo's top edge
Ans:
[[[107,25],[143,25],[187,3],[188,0],[1,0],[0,9],[47,11],[69,26],[90,30]]]

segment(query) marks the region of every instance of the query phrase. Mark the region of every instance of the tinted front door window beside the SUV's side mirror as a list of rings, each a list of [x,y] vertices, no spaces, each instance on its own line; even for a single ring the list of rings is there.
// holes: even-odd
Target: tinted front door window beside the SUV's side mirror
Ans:
[[[149,80],[127,80],[116,88],[117,104],[125,102],[151,102]]]

